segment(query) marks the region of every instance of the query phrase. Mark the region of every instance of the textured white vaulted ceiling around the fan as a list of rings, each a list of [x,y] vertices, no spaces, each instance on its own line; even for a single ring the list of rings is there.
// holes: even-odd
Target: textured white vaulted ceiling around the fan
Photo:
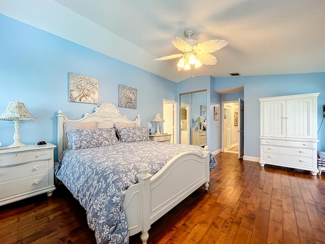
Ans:
[[[2,1],[0,12],[175,82],[191,76],[177,71],[179,58],[153,59],[181,53],[171,40],[187,28],[198,42],[229,42],[195,76],[325,72],[324,0],[22,2]]]

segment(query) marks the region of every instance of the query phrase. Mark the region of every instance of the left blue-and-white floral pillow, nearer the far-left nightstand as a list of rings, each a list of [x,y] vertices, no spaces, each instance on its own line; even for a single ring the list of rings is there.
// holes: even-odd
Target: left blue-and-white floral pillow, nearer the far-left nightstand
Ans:
[[[72,138],[74,150],[120,143],[114,129],[79,129],[70,130],[67,134]]]

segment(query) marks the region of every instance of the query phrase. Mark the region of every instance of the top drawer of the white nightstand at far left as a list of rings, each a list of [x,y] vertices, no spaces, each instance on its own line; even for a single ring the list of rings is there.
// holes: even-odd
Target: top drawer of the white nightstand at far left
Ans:
[[[53,158],[53,150],[34,150],[25,153],[17,152],[0,157],[0,167],[14,164],[21,164],[30,161],[42,161]]]

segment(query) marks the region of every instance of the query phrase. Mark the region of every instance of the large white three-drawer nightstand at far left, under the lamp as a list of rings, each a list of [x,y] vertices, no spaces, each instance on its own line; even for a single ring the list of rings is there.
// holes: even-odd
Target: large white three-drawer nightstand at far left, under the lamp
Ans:
[[[52,196],[56,145],[0,147],[0,206],[41,193]]]

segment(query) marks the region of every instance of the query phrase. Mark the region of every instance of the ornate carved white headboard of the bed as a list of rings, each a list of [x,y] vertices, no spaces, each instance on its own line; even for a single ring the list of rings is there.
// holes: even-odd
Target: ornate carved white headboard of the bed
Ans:
[[[57,112],[58,159],[62,151],[67,148],[67,138],[63,123],[97,122],[98,128],[112,128],[116,122],[137,123],[137,126],[141,126],[140,115],[137,116],[136,120],[129,120],[126,118],[126,115],[121,115],[120,111],[112,103],[103,103],[94,110],[95,111],[93,113],[85,113],[82,118],[77,120],[68,119],[65,115],[63,115],[62,110]]]

